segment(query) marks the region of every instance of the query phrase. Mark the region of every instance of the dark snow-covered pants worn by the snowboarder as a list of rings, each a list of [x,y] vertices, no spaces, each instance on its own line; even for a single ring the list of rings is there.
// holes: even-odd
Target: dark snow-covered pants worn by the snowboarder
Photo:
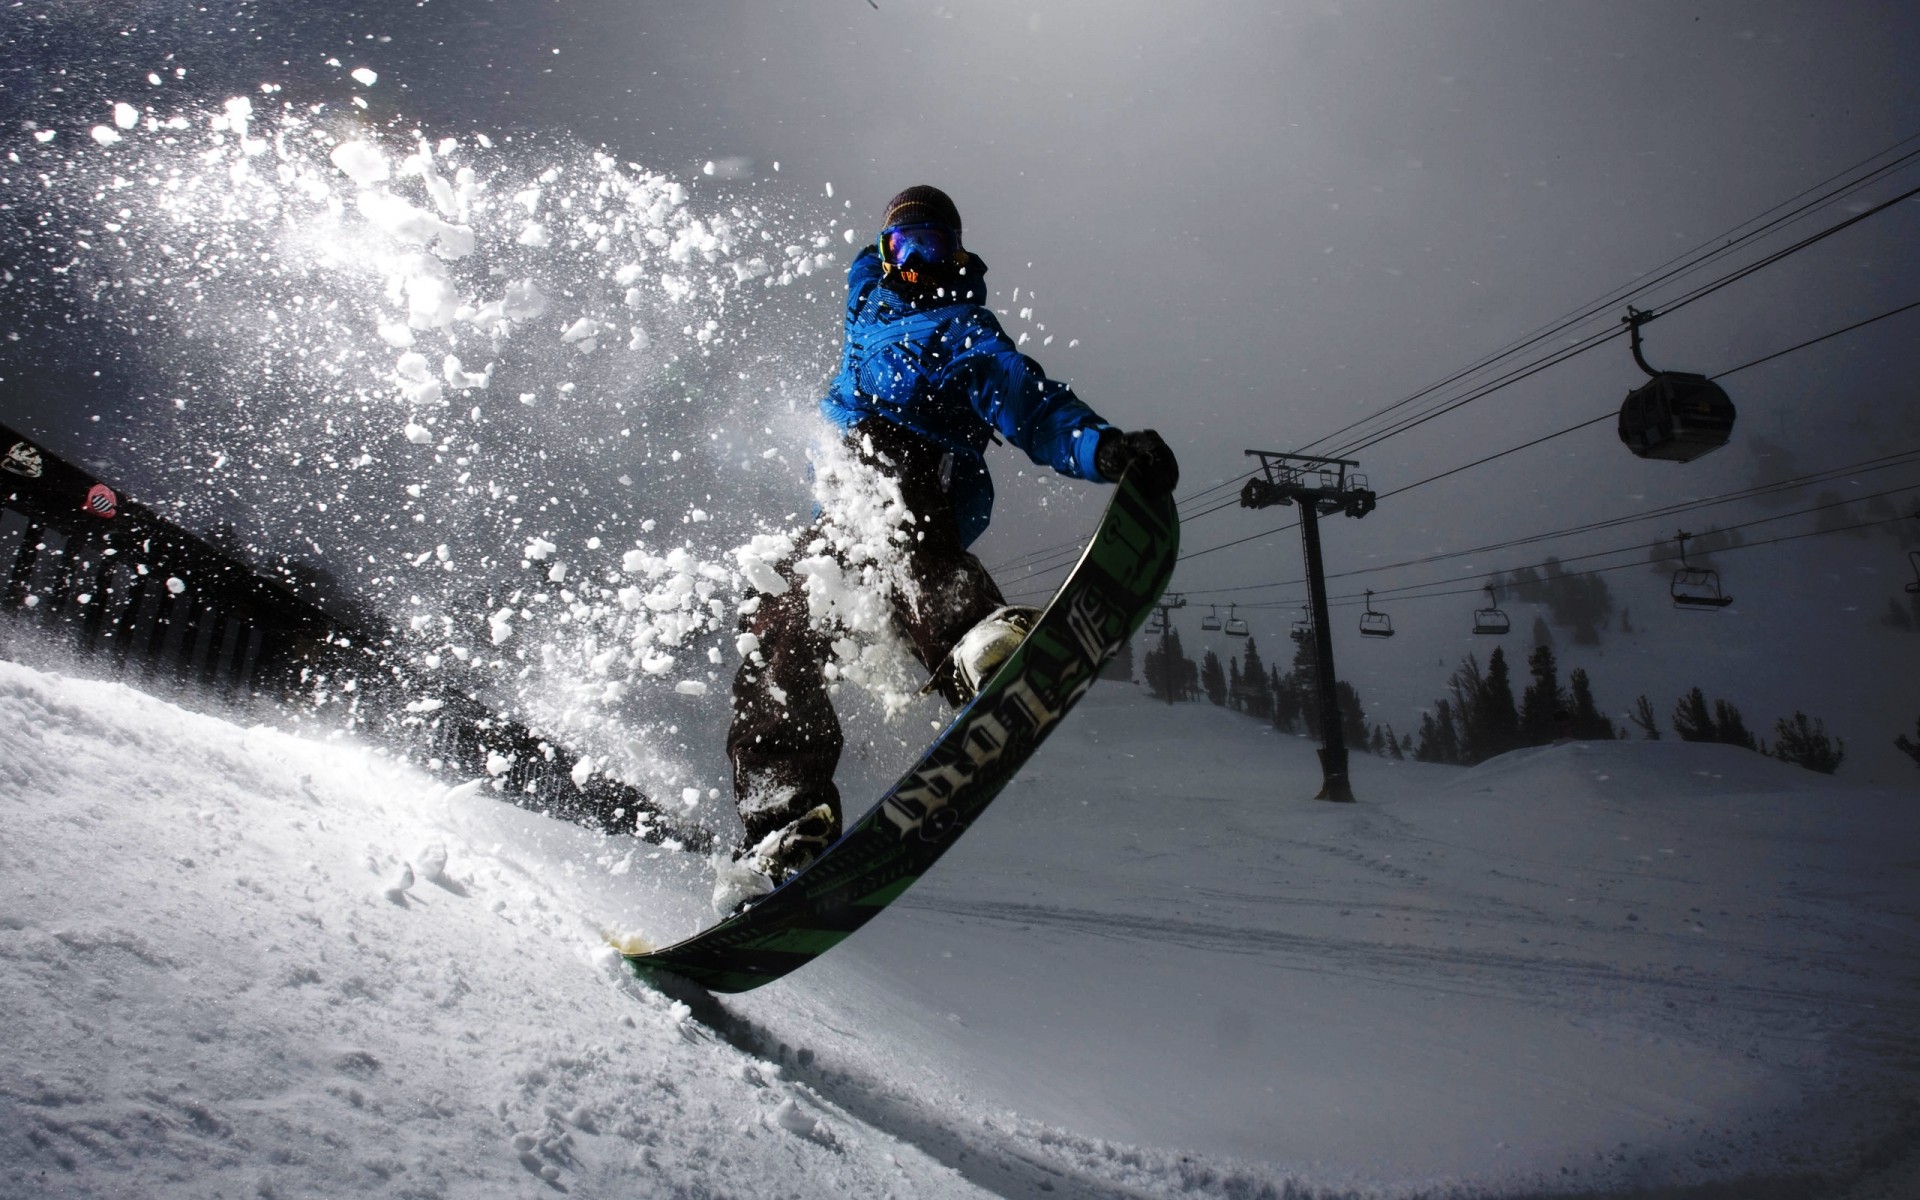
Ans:
[[[914,524],[906,526],[914,540],[902,551],[920,595],[910,603],[895,593],[891,607],[914,657],[931,672],[968,630],[1006,601],[987,568],[960,543],[950,463],[943,461],[947,451],[877,417],[854,426],[847,444],[862,463],[900,484],[914,515]],[[812,538],[803,538],[801,545],[808,541]],[[845,739],[822,674],[833,636],[810,628],[806,584],[795,574],[793,559],[778,570],[787,591],[762,593],[760,607],[741,620],[741,632],[760,639],[762,662],[749,657],[733,676],[733,724],[726,739],[747,847],[816,804],[833,808],[835,828],[841,822],[833,768]],[[947,699],[956,697],[947,691]]]

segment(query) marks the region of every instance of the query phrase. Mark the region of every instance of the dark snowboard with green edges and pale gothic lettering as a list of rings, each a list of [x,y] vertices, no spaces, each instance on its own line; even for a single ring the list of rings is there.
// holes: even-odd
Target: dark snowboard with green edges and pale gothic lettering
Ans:
[[[806,966],[900,897],[1033,756],[1173,576],[1173,497],[1121,478],[1066,584],[1000,670],[820,858],[682,943],[624,952],[643,979],[743,993]]]

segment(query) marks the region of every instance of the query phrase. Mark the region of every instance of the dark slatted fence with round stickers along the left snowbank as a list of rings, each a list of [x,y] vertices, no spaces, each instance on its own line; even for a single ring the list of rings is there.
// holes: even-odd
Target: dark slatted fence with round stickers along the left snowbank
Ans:
[[[386,630],[330,616],[148,505],[0,424],[6,641],[44,637],[108,674],[232,712],[271,708],[388,747],[444,776],[484,776],[520,804],[649,841],[707,849],[645,793],[470,695],[420,678]],[[6,645],[0,655],[13,657]]]

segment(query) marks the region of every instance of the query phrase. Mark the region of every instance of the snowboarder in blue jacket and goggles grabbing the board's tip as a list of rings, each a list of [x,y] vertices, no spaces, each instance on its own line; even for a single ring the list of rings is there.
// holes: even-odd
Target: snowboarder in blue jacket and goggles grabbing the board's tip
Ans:
[[[1116,482],[1139,467],[1156,490],[1179,482],[1160,434],[1114,428],[1020,353],[985,307],[985,273],[962,246],[960,211],[945,192],[922,184],[895,196],[876,244],[847,269],[847,344],[820,399],[849,451],[895,480],[912,513],[908,586],[889,601],[914,657],[933,672],[929,685],[954,705],[1012,653],[1035,614],[1008,607],[968,553],[993,511],[989,440],[1004,438],[1071,478]],[[726,749],[745,837],[720,872],[720,912],[772,891],[841,833],[833,768],[843,737],[822,674],[833,639],[812,626],[793,559],[778,570],[787,588],[758,595],[743,618],[756,655],[733,678]]]

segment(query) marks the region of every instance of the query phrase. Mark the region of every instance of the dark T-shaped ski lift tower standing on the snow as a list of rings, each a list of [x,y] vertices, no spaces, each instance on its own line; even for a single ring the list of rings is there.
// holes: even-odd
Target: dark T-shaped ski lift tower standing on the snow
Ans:
[[[1300,541],[1308,557],[1308,593],[1313,607],[1313,684],[1321,714],[1321,789],[1317,801],[1354,803],[1354,783],[1346,774],[1346,732],[1340,728],[1340,695],[1332,674],[1332,622],[1327,620],[1327,570],[1319,553],[1319,518],[1346,513],[1373,513],[1375,495],[1367,476],[1350,472],[1352,459],[1286,455],[1271,449],[1246,451],[1260,459],[1260,476],[1246,480],[1240,505],[1267,509],[1300,505]]]

